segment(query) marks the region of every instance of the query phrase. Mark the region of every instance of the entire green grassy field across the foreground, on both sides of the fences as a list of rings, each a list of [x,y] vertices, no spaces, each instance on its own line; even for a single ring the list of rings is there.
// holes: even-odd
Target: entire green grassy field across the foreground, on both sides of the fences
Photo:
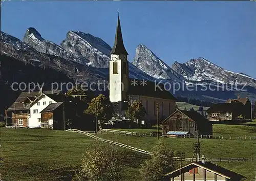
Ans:
[[[218,134],[255,135],[255,126],[214,125]],[[133,130],[134,132],[148,130]],[[113,134],[98,134],[102,138],[118,141],[150,151],[157,142],[154,137],[132,137]],[[160,138],[174,151],[193,155],[195,139]],[[256,157],[256,141],[201,139],[201,154],[206,157]],[[48,129],[6,129],[1,128],[1,163],[3,180],[61,180],[79,168],[84,150],[104,147],[85,135]],[[122,149],[127,154],[122,180],[139,180],[139,165],[146,155]],[[243,174],[247,180],[255,177],[256,163],[218,163],[227,169]],[[65,179],[66,180],[66,179]]]

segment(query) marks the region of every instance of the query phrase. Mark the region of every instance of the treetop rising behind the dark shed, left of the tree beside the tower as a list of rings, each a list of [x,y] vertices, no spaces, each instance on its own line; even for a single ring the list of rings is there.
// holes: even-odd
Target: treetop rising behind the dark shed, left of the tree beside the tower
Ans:
[[[86,90],[85,88],[81,87],[81,85],[77,85],[76,87],[73,87],[67,92],[67,96],[73,95],[80,95],[81,100],[86,103],[90,103],[92,99],[96,97],[95,93],[92,90]]]

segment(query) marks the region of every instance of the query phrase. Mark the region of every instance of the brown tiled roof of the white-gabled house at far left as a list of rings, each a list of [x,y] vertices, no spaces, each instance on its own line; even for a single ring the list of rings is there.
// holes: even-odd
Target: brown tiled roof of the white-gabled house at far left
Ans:
[[[46,90],[44,91],[44,93],[47,94],[61,94],[61,90]],[[30,97],[30,99],[34,99],[37,98],[38,96],[40,96],[40,92],[36,91],[36,92],[22,92],[20,93],[20,95],[18,96],[18,98],[16,99],[16,101],[7,109],[7,111],[12,111],[12,110],[28,110],[28,108],[26,108],[26,104],[23,104],[22,102],[27,98]],[[34,101],[34,100],[32,100]]]

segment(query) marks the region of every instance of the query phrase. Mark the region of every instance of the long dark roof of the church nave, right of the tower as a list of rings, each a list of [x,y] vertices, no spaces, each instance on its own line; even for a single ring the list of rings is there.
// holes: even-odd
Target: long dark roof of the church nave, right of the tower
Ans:
[[[160,88],[156,88],[155,82],[145,81],[146,84],[143,85],[141,83],[142,80],[130,78],[129,81],[130,85],[127,94],[177,100],[176,97],[164,88],[163,84],[159,84],[161,90]],[[134,82],[136,82],[136,84],[134,84]]]

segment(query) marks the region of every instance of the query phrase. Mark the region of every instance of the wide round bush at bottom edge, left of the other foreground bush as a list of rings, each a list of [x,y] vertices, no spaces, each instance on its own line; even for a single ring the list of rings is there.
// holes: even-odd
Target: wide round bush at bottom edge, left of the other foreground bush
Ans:
[[[87,150],[82,157],[81,170],[74,175],[74,181],[117,181],[120,180],[122,152],[113,147],[98,147]]]

